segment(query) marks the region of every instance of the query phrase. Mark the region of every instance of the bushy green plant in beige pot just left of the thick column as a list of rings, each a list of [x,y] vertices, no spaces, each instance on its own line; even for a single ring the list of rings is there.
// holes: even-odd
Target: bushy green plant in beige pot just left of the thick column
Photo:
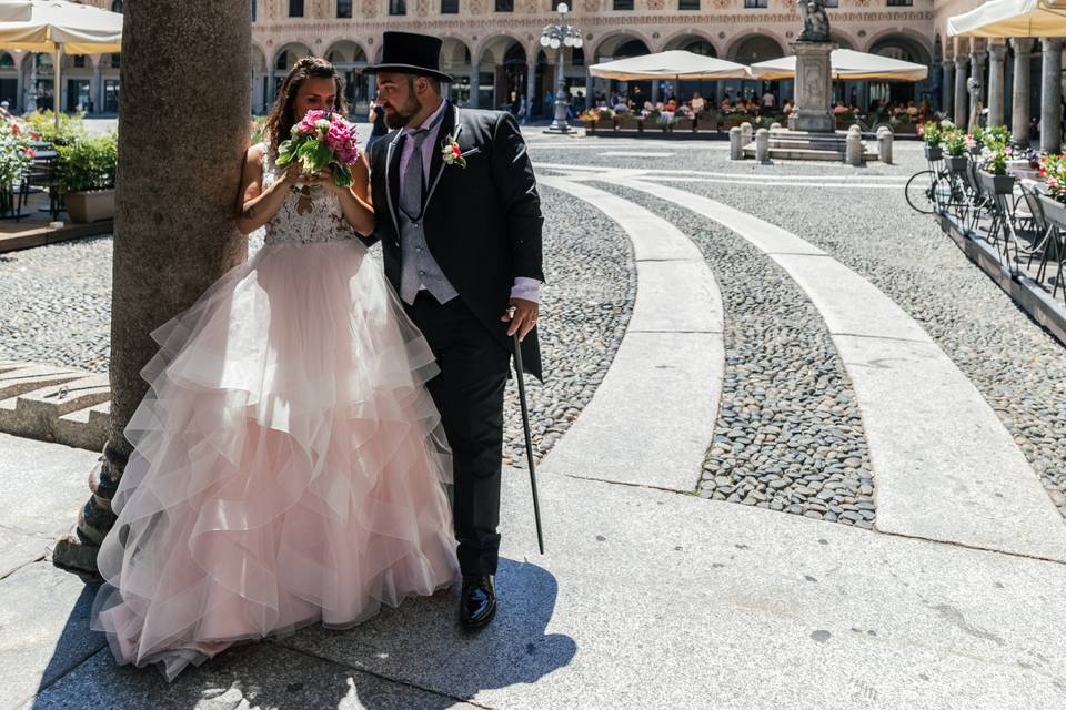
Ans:
[[[60,191],[73,222],[114,217],[114,172],[118,140],[114,135],[82,138],[57,146]]]

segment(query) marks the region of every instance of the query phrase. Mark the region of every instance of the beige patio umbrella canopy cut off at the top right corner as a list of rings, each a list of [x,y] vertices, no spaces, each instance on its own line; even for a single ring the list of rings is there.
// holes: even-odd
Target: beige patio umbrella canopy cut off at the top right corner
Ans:
[[[1066,37],[1066,0],[992,0],[947,19],[948,37]]]

